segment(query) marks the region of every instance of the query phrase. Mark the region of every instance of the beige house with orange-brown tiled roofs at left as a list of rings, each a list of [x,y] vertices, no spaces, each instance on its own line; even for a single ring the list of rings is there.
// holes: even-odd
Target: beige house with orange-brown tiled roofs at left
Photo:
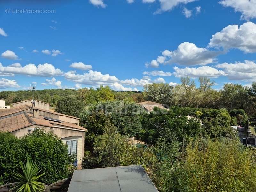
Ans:
[[[18,138],[33,132],[37,127],[46,132],[51,131],[68,145],[69,154],[76,154],[80,168],[80,159],[84,157],[84,133],[87,129],[79,125],[79,118],[39,108],[40,105],[36,106],[35,103],[0,110],[0,131],[11,132]]]

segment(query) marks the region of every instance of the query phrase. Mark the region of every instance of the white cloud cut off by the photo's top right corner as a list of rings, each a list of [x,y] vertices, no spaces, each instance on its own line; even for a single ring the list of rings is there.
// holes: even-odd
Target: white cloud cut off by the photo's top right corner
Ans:
[[[249,20],[256,18],[255,0],[222,0],[219,2],[224,7],[232,7],[236,12],[241,12],[241,19]]]

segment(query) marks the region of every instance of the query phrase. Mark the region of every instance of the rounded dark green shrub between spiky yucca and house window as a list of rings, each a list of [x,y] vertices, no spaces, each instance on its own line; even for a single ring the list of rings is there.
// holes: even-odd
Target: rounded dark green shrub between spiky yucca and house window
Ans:
[[[67,146],[52,132],[35,129],[20,138],[24,150],[23,161],[33,159],[44,174],[40,181],[51,184],[68,177],[70,157]]]

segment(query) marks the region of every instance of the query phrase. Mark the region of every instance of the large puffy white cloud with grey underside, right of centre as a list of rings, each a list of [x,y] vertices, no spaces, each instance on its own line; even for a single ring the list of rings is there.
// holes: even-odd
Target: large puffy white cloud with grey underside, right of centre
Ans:
[[[178,63],[180,65],[206,65],[209,63],[216,62],[216,56],[221,52],[209,51],[206,48],[199,48],[193,43],[184,42],[181,43],[178,48],[174,51],[165,50],[162,55],[165,57],[164,64]],[[159,58],[159,57],[158,57]],[[156,60],[153,60],[154,62]],[[156,61],[157,62],[157,61]],[[152,63],[152,61],[151,61]],[[156,66],[160,62],[155,63]]]

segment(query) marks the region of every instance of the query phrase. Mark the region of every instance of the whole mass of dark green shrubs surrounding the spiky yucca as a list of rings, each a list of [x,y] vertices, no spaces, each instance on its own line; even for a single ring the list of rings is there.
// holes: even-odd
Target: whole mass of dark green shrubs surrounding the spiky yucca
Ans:
[[[68,177],[71,167],[67,146],[52,132],[35,129],[20,139],[1,132],[0,138],[0,184],[13,182],[13,173],[29,159],[36,161],[40,173],[45,172],[40,182],[51,184]]]

